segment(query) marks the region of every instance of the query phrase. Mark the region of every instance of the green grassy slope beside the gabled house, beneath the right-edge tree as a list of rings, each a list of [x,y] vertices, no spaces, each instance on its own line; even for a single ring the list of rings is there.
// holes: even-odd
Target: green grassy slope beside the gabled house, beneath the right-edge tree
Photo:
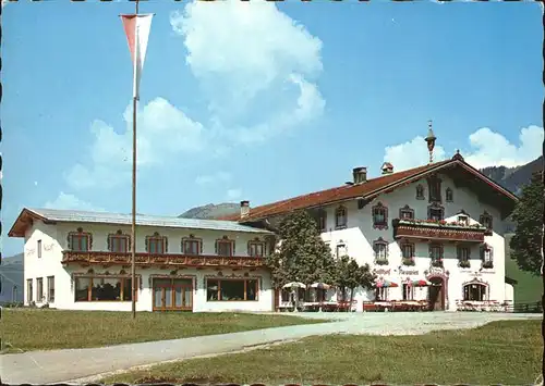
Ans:
[[[509,241],[512,235],[506,235],[506,276],[519,282],[514,285],[514,302],[530,303],[540,301],[542,298],[543,285],[540,276],[534,276],[529,272],[521,271],[517,262],[510,257]]]

